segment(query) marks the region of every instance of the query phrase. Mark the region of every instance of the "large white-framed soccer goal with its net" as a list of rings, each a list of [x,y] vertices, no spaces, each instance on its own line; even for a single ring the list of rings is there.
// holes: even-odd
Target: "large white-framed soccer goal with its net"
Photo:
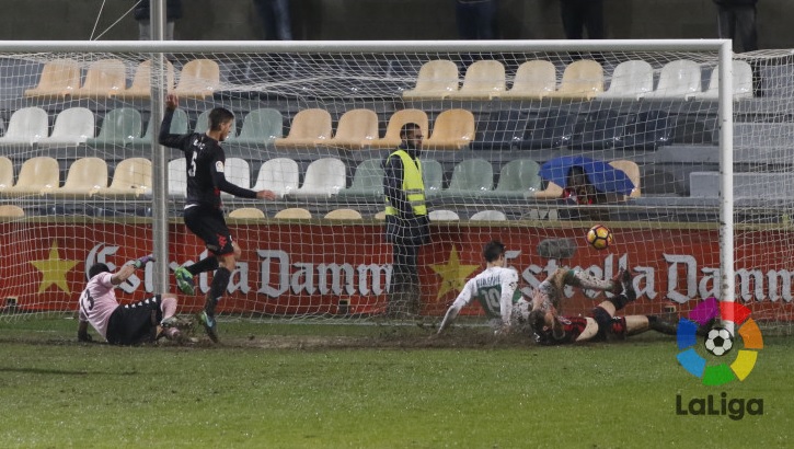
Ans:
[[[723,41],[1,50],[0,320],[73,312],[94,263],[154,253],[119,287],[131,301],[175,291],[173,270],[209,254],[182,222],[185,160],[157,145],[165,92],[180,96],[174,134],[204,133],[214,107],[233,112],[227,179],[278,196],[222,194],[243,253],[221,313],[382,316],[394,281],[382,161],[416,123],[431,219],[421,319],[444,313],[492,239],[526,293],[556,267],[625,268],[638,292],[628,313],[684,315],[714,296],[768,329],[794,318],[785,51],[733,55]],[[588,244],[595,225],[611,231],[607,249]],[[200,309],[210,280],[196,278],[183,311]],[[569,288],[566,311],[603,295]]]

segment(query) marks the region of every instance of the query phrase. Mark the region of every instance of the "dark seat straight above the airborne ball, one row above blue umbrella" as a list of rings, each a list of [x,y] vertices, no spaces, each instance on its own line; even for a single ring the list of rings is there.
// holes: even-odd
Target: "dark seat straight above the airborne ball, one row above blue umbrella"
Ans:
[[[599,110],[576,123],[571,147],[579,150],[622,148],[629,115],[611,110]]]

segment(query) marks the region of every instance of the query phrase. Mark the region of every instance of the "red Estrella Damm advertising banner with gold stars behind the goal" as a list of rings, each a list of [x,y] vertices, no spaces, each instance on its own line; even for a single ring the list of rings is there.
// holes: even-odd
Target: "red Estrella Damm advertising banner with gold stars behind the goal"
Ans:
[[[377,313],[388,300],[391,246],[382,226],[264,223],[232,225],[243,249],[222,311],[276,315]],[[419,254],[423,313],[440,315],[467,279],[482,269],[482,246],[502,240],[507,263],[515,267],[529,293],[561,266],[579,267],[610,278],[621,267],[635,276],[640,299],[626,313],[659,312],[676,304],[688,311],[693,300],[716,296],[720,252],[716,230],[614,228],[615,243],[605,251],[589,247],[583,228],[482,227],[434,225],[433,242]],[[15,256],[0,266],[0,295],[16,298],[22,310],[73,310],[85,284],[87,267],[102,262],[112,269],[151,252],[146,223],[0,223],[0,243]],[[182,225],[171,225],[170,269],[206,256],[205,249]],[[737,235],[737,300],[757,320],[794,319],[792,277],[786,254],[794,235],[755,231]],[[571,239],[569,260],[544,258],[538,245],[545,239]],[[743,244],[743,242],[751,242]],[[161,263],[161,262],[158,262]],[[197,277],[200,293],[209,288],[206,274]],[[176,291],[171,285],[171,291]],[[153,293],[153,269],[147,266],[117,296],[133,301]],[[182,310],[198,310],[203,295],[181,296]],[[603,293],[568,288],[566,311],[589,310]],[[481,313],[469,308],[467,313]]]

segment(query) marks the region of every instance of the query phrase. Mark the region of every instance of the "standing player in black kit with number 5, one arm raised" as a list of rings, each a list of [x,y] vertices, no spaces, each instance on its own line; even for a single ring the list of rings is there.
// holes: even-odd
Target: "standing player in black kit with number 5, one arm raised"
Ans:
[[[176,148],[185,153],[187,161],[187,198],[184,220],[187,229],[198,235],[212,253],[191,266],[181,266],[174,272],[176,285],[186,295],[194,293],[193,277],[199,273],[215,270],[212,284],[207,293],[204,311],[199,315],[207,335],[218,342],[215,307],[223,297],[231,272],[240,257],[240,246],[231,238],[223,219],[220,193],[226,192],[241,198],[275,199],[271,191],[250,191],[226,180],[223,165],[226,154],[220,147],[231,127],[234,114],[223,107],[209,112],[209,127],[206,134],[169,134],[174,111],[180,105],[176,95],[165,97],[165,116],[160,128],[160,145]]]

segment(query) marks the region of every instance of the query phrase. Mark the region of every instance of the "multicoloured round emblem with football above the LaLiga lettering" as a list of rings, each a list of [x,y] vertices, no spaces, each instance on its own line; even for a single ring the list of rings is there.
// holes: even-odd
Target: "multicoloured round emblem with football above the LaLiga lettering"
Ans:
[[[741,336],[744,349],[740,349],[736,359],[730,364],[706,366],[705,358],[694,350],[698,343],[697,333],[700,326],[706,325],[715,318],[730,321],[737,326]],[[763,338],[758,324],[750,318],[750,309],[736,302],[720,302],[709,298],[699,303],[689,313],[689,320],[682,318],[678,322],[678,361],[683,369],[692,376],[701,378],[704,385],[722,385],[736,379],[744,381],[756,366],[758,352],[763,349]],[[705,348],[709,353],[721,357],[734,346],[734,335],[724,327],[714,327],[709,331]]]

